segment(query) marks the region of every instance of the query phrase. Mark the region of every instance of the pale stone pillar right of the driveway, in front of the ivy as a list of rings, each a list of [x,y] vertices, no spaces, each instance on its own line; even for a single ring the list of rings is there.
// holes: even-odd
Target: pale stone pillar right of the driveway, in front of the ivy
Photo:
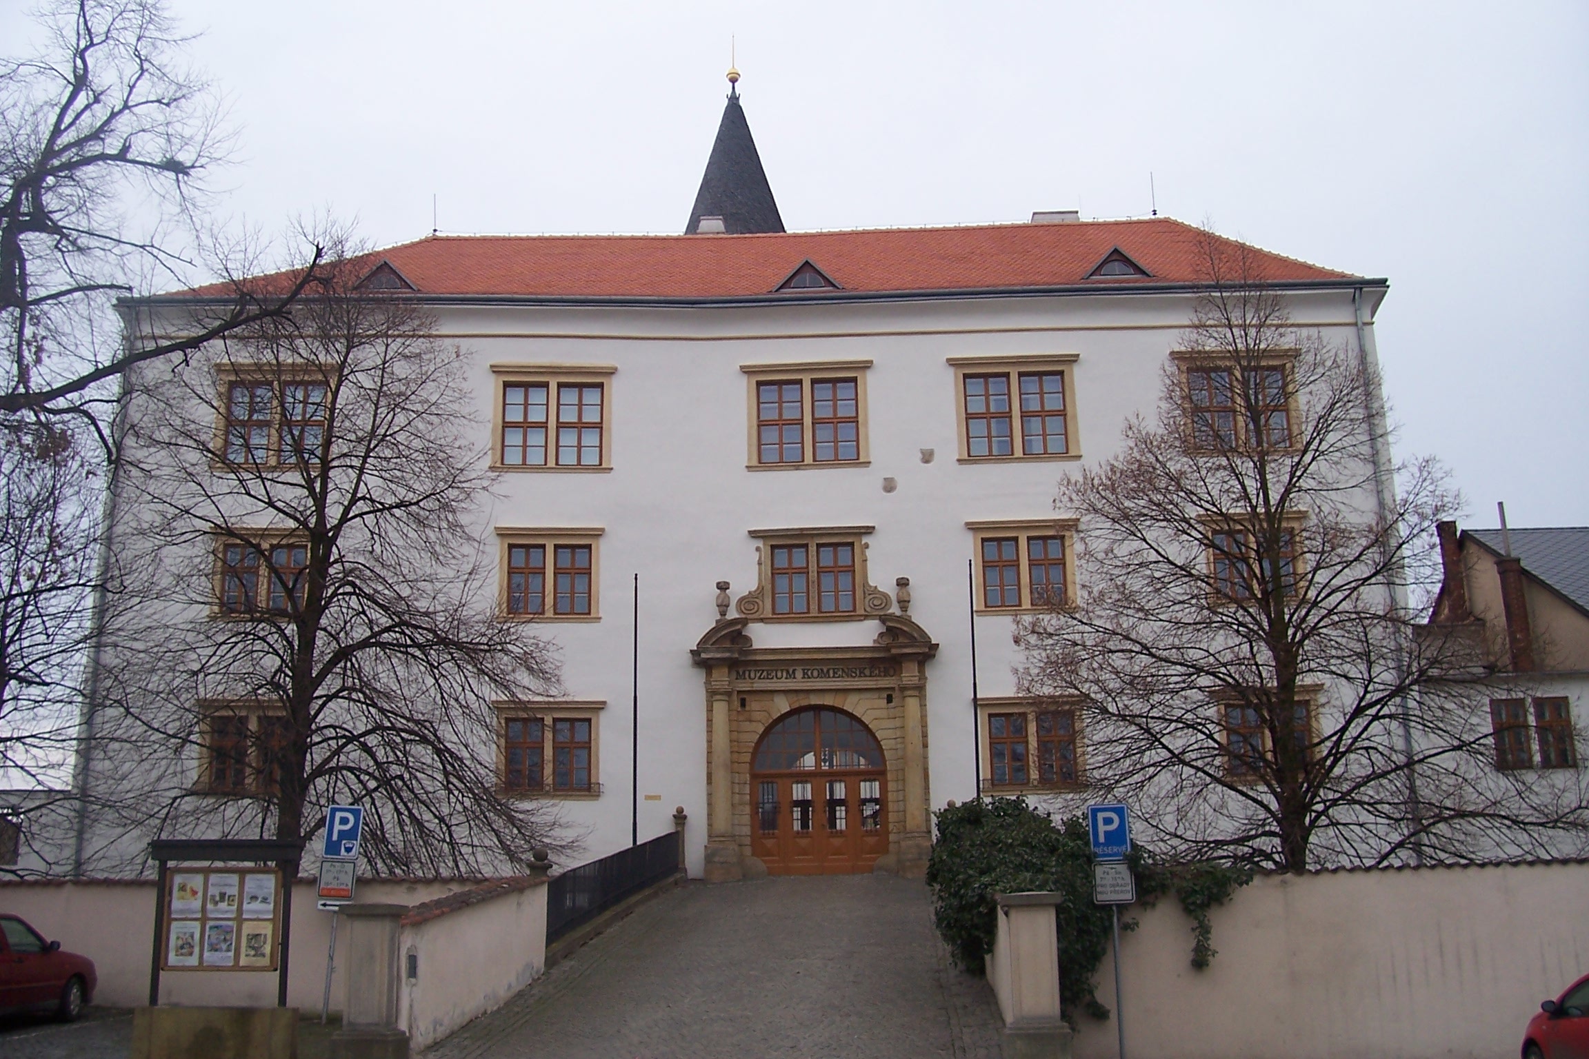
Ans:
[[[995,894],[998,934],[988,983],[1004,1016],[1006,1059],[1069,1059],[1071,1029],[1060,1018],[1060,946],[1054,907],[1063,894]]]

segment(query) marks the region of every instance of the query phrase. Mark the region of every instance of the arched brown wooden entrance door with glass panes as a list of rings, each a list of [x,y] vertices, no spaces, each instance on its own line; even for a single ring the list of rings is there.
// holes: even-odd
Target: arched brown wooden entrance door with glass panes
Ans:
[[[849,713],[809,707],[767,727],[750,799],[750,851],[772,875],[871,872],[888,853],[883,751]]]

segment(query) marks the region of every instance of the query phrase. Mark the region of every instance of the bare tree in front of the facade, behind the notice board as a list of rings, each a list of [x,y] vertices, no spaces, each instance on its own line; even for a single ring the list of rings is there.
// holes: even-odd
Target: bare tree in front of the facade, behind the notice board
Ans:
[[[464,360],[419,305],[358,287],[370,264],[338,256],[291,318],[140,372],[95,703],[102,859],[108,821],[302,838],[340,802],[367,807],[391,873],[559,843],[551,803],[497,778],[494,703],[558,681],[548,643],[497,618]]]

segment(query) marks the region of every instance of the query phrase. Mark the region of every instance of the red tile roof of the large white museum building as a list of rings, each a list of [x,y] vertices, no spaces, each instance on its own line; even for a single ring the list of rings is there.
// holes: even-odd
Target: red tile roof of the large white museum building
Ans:
[[[370,265],[391,262],[421,294],[548,298],[766,295],[804,260],[849,292],[1131,286],[1201,281],[1200,235],[1170,218],[767,235],[440,235],[377,251]],[[1114,248],[1149,276],[1088,279]],[[1351,278],[1268,251],[1252,260],[1274,283]]]

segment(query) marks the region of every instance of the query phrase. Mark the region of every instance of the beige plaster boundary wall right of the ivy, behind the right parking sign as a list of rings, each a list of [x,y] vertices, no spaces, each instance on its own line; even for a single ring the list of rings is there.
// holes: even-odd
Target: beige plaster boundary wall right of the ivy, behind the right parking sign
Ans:
[[[1212,913],[1193,970],[1176,900],[1123,910],[1131,1059],[1502,1059],[1540,1000],[1589,972],[1589,864],[1270,875]],[[1098,969],[1114,1008],[1114,964]],[[1117,1054],[1079,1016],[1076,1059]]]

